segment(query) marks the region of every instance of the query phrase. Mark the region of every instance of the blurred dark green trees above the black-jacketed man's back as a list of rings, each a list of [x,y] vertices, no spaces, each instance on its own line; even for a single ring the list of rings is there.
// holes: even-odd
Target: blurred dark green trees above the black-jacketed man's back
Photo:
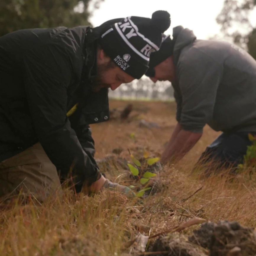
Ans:
[[[88,6],[104,0],[0,0],[0,36],[25,28],[89,25]]]

